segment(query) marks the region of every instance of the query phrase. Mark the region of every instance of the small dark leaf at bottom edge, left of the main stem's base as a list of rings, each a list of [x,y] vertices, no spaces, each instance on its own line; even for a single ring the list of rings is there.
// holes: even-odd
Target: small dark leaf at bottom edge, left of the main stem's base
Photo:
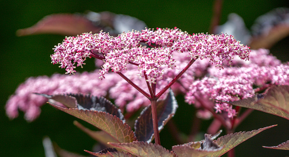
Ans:
[[[132,156],[131,154],[129,153],[126,153],[126,152],[121,152],[121,151],[118,151],[117,149],[114,149],[114,148],[106,148],[100,152],[91,152],[91,151],[88,151],[88,150],[84,150],[92,155],[95,155],[95,156],[99,156],[99,157],[129,157],[129,156]]]

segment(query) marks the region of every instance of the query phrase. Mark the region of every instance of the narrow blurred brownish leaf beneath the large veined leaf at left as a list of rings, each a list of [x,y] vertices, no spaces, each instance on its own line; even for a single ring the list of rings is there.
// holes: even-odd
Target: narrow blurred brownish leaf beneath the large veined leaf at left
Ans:
[[[83,125],[81,125],[79,122],[74,121],[73,124],[80,128],[83,132],[87,133],[92,139],[100,142],[101,144],[105,145],[106,147],[110,147],[107,143],[108,142],[115,142],[117,143],[118,141],[113,139],[112,136],[110,136],[109,134],[107,134],[104,131],[92,131],[86,127],[84,127]]]

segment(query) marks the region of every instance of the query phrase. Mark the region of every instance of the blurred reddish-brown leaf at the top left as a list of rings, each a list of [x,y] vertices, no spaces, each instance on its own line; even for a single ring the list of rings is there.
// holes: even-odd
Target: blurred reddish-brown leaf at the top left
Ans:
[[[85,16],[76,14],[52,14],[42,18],[32,27],[17,30],[18,36],[32,34],[62,34],[75,36],[83,32],[99,32],[102,28],[95,27]]]

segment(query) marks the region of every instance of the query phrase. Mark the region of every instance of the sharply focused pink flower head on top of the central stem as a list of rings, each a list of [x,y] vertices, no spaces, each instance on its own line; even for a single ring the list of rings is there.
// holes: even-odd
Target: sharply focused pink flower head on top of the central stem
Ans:
[[[117,37],[108,33],[83,33],[66,37],[62,44],[55,46],[51,55],[53,64],[74,73],[77,66],[84,65],[86,57],[95,57],[98,51],[104,54],[100,78],[111,69],[122,72],[127,64],[138,66],[139,75],[147,75],[147,81],[156,83],[163,75],[164,68],[175,67],[172,52],[186,52],[191,60],[209,58],[223,68],[223,61],[232,63],[233,55],[248,60],[249,48],[234,40],[232,35],[193,34],[175,29],[145,29],[122,33]],[[76,64],[76,65],[75,65]]]

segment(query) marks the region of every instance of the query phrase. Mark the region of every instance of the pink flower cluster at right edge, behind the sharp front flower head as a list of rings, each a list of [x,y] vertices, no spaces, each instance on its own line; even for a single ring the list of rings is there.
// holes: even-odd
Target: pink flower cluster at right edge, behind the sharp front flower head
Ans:
[[[185,96],[186,102],[198,104],[196,96],[237,101],[253,96],[253,86],[289,85],[289,63],[281,64],[276,57],[269,55],[267,50],[252,51],[250,61],[235,61],[234,65],[241,67],[225,67],[223,70],[208,68],[205,77],[190,85]],[[226,103],[216,103],[214,108],[216,112],[226,112],[228,117],[236,114],[235,109]]]

